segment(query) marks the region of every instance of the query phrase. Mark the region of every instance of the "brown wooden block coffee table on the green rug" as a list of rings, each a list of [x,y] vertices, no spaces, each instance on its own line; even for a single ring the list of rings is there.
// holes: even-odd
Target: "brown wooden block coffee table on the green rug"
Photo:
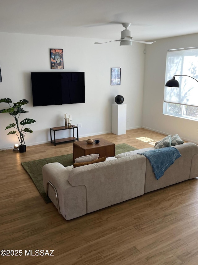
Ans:
[[[115,156],[115,144],[107,141],[103,138],[96,138],[94,140],[100,140],[98,144],[87,144],[86,140],[73,142],[73,159],[86,156],[90,154],[99,154],[101,157]]]

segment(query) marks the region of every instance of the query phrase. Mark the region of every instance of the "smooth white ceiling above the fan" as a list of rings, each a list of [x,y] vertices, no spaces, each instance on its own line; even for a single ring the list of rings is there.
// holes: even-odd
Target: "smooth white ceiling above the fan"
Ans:
[[[0,32],[134,40],[198,33],[197,0],[0,0]],[[120,23],[120,24],[119,24]]]

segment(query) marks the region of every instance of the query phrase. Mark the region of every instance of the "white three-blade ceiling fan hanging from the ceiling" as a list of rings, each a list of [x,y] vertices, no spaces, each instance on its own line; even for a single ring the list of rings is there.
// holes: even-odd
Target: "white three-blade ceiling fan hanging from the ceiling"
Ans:
[[[131,23],[122,23],[122,25],[125,28],[125,30],[121,31],[120,39],[111,40],[111,41],[107,41],[107,42],[94,42],[94,44],[102,44],[102,43],[108,43],[108,42],[112,42],[112,41],[119,41],[120,46],[122,46],[122,45],[132,45],[132,41],[140,42],[140,43],[146,43],[146,44],[152,44],[153,42],[155,42],[155,41],[150,42],[150,41],[142,41],[142,40],[132,40],[131,31],[128,30]]]

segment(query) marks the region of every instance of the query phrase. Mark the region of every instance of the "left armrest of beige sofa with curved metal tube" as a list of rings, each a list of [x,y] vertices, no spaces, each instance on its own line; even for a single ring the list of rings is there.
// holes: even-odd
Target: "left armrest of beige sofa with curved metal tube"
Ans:
[[[47,181],[54,185],[58,193],[60,212],[66,220],[86,214],[85,186],[72,187],[67,180],[70,171],[71,167],[65,168],[60,163],[49,163],[42,168],[44,190],[47,191]],[[58,208],[54,189],[50,185],[48,196]]]

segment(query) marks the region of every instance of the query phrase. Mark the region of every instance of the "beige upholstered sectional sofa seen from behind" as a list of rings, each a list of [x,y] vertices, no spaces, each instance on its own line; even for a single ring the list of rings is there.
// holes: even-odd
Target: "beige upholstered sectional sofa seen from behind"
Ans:
[[[123,202],[183,180],[198,176],[198,146],[185,143],[174,146],[181,154],[156,180],[149,160],[137,153],[144,148],[105,162],[73,168],[60,163],[43,167],[45,192],[66,220]],[[48,191],[47,191],[48,190]]]

